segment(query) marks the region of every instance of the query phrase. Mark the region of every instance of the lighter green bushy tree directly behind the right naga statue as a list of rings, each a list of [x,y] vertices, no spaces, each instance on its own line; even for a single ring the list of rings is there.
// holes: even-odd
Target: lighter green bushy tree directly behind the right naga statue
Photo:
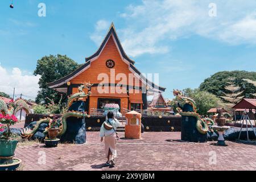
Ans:
[[[207,111],[213,107],[225,107],[220,98],[199,89],[187,88],[183,90],[183,94],[196,102],[197,113],[201,115],[207,115]]]

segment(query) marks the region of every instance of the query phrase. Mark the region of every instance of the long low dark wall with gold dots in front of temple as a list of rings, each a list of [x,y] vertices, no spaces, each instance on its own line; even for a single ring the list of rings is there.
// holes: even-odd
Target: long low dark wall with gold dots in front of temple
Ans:
[[[51,115],[61,117],[61,114]],[[28,114],[26,117],[25,127],[33,121],[39,121],[47,118],[47,114]],[[86,131],[100,131],[102,123],[105,121],[104,116],[91,116],[86,118]],[[181,117],[177,116],[143,116],[142,124],[144,131],[181,131]]]

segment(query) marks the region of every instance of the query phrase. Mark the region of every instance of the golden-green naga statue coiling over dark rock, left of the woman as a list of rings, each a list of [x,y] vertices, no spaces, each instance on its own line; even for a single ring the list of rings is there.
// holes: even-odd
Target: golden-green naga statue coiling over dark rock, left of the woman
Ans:
[[[73,94],[71,97],[68,98],[68,103],[67,106],[68,108],[73,104],[75,100],[79,100],[81,98],[90,96],[90,88],[92,84],[90,83],[85,83],[84,85],[79,86],[79,93]],[[88,94],[85,94],[83,89],[86,88],[88,89]],[[67,131],[67,118],[69,117],[75,117],[75,118],[85,118],[85,117],[90,117],[87,113],[82,113],[79,111],[67,111],[67,113],[64,113],[61,118],[57,120],[59,122],[59,134],[58,136],[61,137],[65,132]],[[43,118],[40,119],[40,121],[36,122],[36,124],[32,127],[26,127],[24,129],[21,129],[21,136],[22,138],[26,139],[31,139],[34,134],[38,131],[40,125],[43,123],[49,123],[51,121],[51,118]],[[44,134],[46,135],[48,133],[48,127],[46,127]]]

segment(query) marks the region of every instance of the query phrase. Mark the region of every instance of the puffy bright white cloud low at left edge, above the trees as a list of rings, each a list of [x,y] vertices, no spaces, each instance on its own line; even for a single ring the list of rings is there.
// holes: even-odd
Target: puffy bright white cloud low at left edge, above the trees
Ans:
[[[36,97],[39,91],[39,78],[40,76],[25,75],[19,68],[8,71],[0,64],[0,92],[11,94],[15,88],[16,94]]]

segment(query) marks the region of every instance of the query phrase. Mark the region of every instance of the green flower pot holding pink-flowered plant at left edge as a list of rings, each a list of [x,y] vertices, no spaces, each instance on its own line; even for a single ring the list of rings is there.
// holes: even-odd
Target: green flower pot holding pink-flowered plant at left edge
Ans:
[[[14,156],[18,140],[0,140],[0,156]]]

